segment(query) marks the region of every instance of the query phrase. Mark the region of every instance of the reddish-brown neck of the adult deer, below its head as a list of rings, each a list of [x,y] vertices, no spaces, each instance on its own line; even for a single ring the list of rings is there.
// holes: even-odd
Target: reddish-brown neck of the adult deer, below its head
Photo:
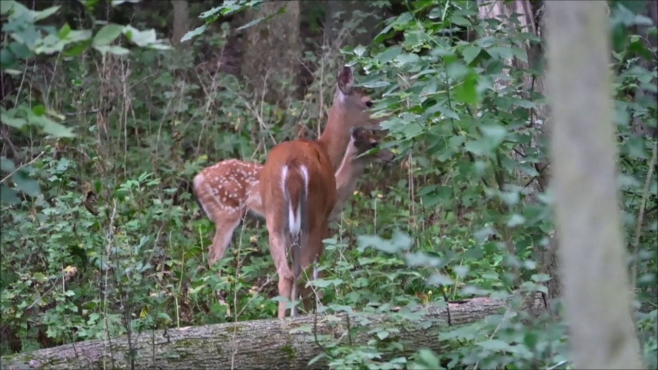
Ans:
[[[335,97],[334,101],[336,99],[340,99],[340,97]],[[326,149],[334,171],[336,171],[345,154],[345,148],[349,144],[349,119],[345,109],[340,107],[340,102],[334,103],[329,110],[327,125],[318,142]]]

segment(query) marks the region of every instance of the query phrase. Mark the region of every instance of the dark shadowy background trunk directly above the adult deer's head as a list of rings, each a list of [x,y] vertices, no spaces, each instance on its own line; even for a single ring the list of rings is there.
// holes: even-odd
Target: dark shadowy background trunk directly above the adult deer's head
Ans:
[[[370,45],[382,20],[381,13],[370,1],[326,1],[325,43],[336,49],[345,45]]]

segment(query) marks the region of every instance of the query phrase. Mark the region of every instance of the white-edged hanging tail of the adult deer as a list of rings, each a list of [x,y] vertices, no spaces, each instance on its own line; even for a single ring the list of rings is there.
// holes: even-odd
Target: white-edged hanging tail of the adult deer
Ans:
[[[297,278],[301,275],[301,246],[307,245],[309,236],[308,196],[309,196],[309,169],[297,163],[294,159],[289,161],[281,170],[281,188],[284,194],[284,204],[288,208],[288,232],[293,248],[293,282],[291,300],[297,299]],[[284,213],[285,214],[285,213]],[[293,307],[291,316],[295,316]]]

